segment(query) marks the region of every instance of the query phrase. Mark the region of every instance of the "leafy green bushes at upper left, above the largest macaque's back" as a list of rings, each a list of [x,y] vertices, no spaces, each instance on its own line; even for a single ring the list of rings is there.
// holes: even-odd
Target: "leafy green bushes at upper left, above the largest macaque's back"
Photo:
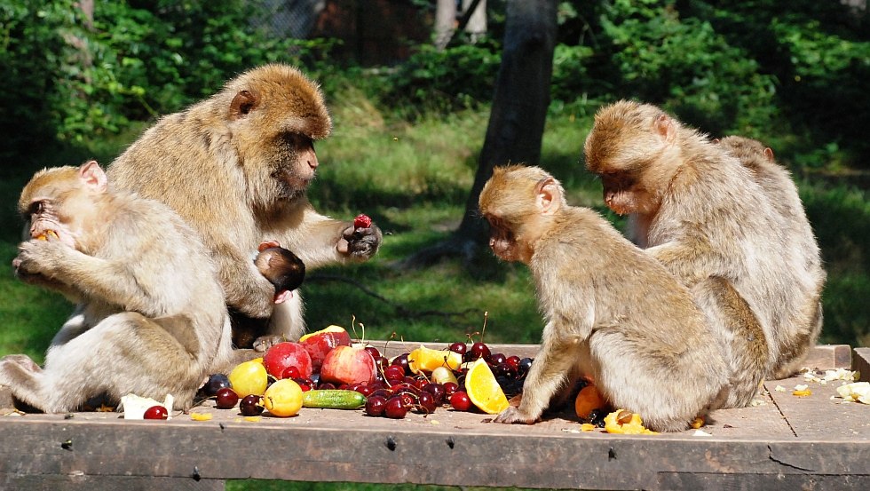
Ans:
[[[105,2],[87,26],[74,0],[10,0],[0,68],[3,127],[21,146],[53,137],[81,143],[115,134],[217,91],[233,75],[273,61],[317,74],[331,46],[255,28],[261,2]],[[30,115],[32,108],[40,110]],[[21,134],[36,127],[39,133]],[[28,121],[29,120],[29,121]],[[20,148],[19,148],[20,149]]]

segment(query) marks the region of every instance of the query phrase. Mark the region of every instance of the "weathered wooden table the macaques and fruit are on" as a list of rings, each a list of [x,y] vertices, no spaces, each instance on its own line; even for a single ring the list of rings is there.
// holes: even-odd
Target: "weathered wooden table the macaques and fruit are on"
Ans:
[[[378,344],[378,343],[376,343]],[[383,347],[383,343],[379,343]],[[390,343],[396,354],[417,344]],[[442,344],[426,343],[430,347]],[[534,345],[503,345],[534,354]],[[860,369],[870,348],[819,346],[808,366]],[[125,421],[117,413],[0,416],[0,489],[222,489],[226,479],[583,489],[870,489],[870,406],[832,399],[841,381],[765,384],[763,405],[717,411],[658,435],[580,432],[570,418],[502,425],[439,408],[404,420],[304,408],[291,418]],[[787,389],[778,392],[777,386]],[[0,392],[0,407],[9,405]]]

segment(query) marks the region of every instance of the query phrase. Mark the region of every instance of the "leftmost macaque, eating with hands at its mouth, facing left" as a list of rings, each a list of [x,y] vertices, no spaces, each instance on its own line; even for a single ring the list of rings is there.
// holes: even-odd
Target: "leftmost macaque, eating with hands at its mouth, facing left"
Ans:
[[[210,373],[234,362],[223,291],[206,249],[160,202],[107,189],[97,162],[41,170],[19,210],[29,240],[12,261],[23,281],[55,289],[75,313],[40,368],[0,359],[0,384],[48,413],[127,393],[189,408]]]

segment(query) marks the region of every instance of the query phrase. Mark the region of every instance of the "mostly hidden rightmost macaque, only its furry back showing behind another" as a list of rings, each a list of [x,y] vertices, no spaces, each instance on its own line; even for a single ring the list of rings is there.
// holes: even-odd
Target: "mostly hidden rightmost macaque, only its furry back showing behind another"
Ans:
[[[819,297],[820,290],[825,283],[826,273],[822,267],[819,244],[812,232],[810,220],[807,219],[806,211],[803,210],[803,202],[797,193],[797,186],[792,180],[791,173],[779,165],[773,156],[771,147],[765,147],[763,143],[755,139],[731,136],[719,141],[720,147],[740,159],[755,179],[764,193],[771,199],[773,209],[779,215],[779,234],[783,234],[780,242],[783,249],[780,254],[787,256],[792,265],[802,265],[802,274],[809,275],[797,285],[803,287],[802,292],[796,295],[808,298]],[[810,321],[810,329],[803,331],[805,336],[796,336],[787,339],[782,345],[784,353],[783,363],[775,367],[773,376],[784,378],[791,376],[801,368],[801,361],[815,344],[822,329],[822,306],[819,303],[815,321]],[[791,322],[807,322],[805,313],[798,311],[798,319]],[[788,360],[791,360],[790,362]]]

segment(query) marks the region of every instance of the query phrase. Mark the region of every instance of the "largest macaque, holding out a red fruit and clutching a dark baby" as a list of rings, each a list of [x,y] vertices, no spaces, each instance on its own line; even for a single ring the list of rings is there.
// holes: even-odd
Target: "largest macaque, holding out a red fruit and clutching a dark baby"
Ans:
[[[261,351],[305,330],[301,297],[274,304],[273,283],[249,260],[261,242],[280,243],[309,270],[367,259],[381,242],[377,226],[324,217],[305,196],[318,166],[313,142],[331,127],[315,83],[267,65],[163,117],[108,170],[115,186],[166,203],[202,236],[231,313],[261,327]]]

